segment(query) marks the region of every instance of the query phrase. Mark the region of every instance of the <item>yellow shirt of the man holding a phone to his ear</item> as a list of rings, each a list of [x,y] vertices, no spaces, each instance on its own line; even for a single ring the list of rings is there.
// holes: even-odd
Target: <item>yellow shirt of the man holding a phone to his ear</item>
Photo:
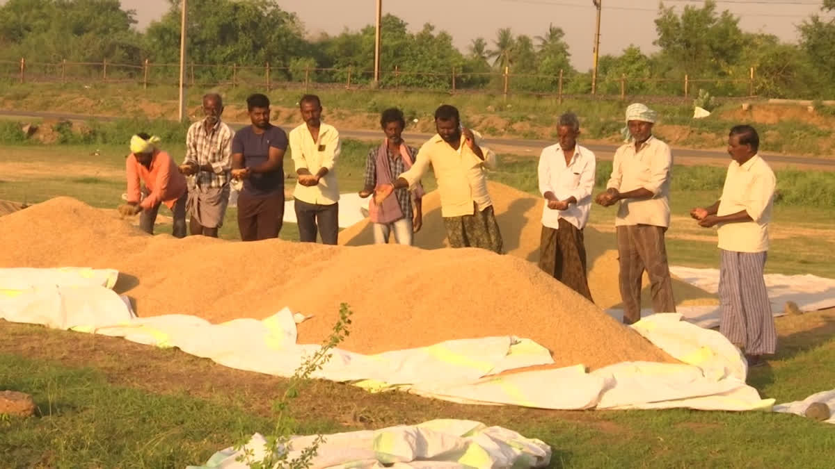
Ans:
[[[478,208],[478,211],[483,211],[493,205],[487,192],[487,175],[484,169],[495,167],[496,154],[481,144],[480,134],[473,132],[473,136],[475,144],[481,147],[484,154],[483,160],[473,153],[463,135],[456,150],[440,135],[435,134],[417,152],[412,169],[400,174],[402,179],[408,181],[409,187],[413,188],[427,173],[431,164],[435,179],[438,180],[443,217],[472,215],[473,206]]]

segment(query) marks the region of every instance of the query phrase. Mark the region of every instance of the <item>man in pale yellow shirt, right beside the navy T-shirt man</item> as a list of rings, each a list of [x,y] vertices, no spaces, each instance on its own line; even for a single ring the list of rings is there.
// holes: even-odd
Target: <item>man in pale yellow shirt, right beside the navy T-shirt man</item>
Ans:
[[[321,101],[306,94],[299,101],[304,124],[290,131],[290,150],[298,182],[293,192],[299,240],[336,245],[339,235],[339,186],[334,166],[342,151],[339,132],[321,121]]]

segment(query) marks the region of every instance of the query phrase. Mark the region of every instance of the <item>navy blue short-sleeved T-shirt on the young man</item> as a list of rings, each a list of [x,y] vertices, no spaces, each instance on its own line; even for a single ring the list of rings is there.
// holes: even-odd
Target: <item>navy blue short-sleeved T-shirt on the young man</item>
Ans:
[[[287,134],[281,128],[271,125],[263,134],[256,134],[252,126],[235,133],[232,139],[232,154],[244,155],[244,167],[255,168],[270,159],[270,148],[286,150]],[[284,168],[271,173],[251,174],[244,179],[244,192],[251,195],[271,195],[284,192]]]

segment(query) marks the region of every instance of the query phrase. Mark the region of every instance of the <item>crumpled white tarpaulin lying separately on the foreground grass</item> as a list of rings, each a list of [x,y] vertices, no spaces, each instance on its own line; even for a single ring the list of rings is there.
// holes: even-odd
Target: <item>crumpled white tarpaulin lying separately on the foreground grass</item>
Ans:
[[[301,456],[316,436],[296,436],[289,442],[288,460]],[[250,461],[262,461],[266,440],[256,433],[246,444]],[[244,450],[234,447],[218,451],[205,466],[187,469],[245,469],[237,461]],[[416,426],[392,426],[382,430],[351,431],[326,435],[311,460],[311,469],[332,468],[451,468],[451,467],[544,467],[551,460],[551,448],[544,442],[525,438],[500,426],[478,421],[435,420]]]

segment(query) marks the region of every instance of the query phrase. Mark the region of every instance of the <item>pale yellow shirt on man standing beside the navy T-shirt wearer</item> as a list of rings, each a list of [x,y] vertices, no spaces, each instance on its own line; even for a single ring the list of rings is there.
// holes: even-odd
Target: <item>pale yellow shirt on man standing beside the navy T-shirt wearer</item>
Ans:
[[[316,174],[319,169],[327,168],[327,174],[315,186],[307,187],[296,183],[293,197],[308,204],[336,204],[339,201],[339,186],[334,166],[342,152],[342,142],[339,140],[337,129],[321,123],[319,139],[314,141],[307,124],[301,124],[290,131],[290,151],[296,171],[304,168],[311,174]]]

